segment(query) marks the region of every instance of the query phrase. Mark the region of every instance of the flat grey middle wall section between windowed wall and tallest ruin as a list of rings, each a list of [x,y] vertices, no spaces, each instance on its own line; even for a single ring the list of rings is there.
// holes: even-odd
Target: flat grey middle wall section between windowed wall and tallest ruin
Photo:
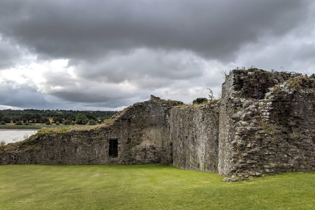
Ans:
[[[171,109],[170,131],[175,167],[218,172],[218,104]]]

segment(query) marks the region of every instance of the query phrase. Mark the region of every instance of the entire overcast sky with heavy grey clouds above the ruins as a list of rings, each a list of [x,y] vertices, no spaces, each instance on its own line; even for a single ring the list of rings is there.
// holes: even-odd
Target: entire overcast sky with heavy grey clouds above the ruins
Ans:
[[[237,66],[315,73],[313,0],[0,0],[0,109],[186,103]]]

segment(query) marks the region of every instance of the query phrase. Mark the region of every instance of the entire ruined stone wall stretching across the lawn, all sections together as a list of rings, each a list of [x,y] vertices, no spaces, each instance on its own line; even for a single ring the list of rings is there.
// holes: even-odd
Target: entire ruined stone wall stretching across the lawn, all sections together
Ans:
[[[163,162],[232,177],[225,181],[315,171],[314,79],[232,70],[217,104],[180,104],[151,96],[114,116],[107,127],[40,131],[0,147],[0,164]]]

